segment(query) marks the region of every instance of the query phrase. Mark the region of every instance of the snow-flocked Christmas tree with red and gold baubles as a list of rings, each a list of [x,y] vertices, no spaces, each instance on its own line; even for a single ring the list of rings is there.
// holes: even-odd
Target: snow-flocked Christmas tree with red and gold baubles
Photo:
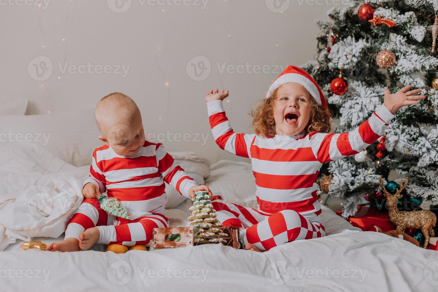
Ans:
[[[379,199],[379,177],[408,176],[406,197],[421,208],[438,204],[438,0],[350,0],[328,11],[315,60],[301,67],[324,91],[337,133],[353,130],[391,93],[412,84],[418,104],[396,112],[385,135],[365,151],[323,165],[319,177],[331,196],[346,198],[343,216]],[[340,78],[339,78],[340,75]],[[324,188],[322,188],[324,189]],[[321,192],[321,190],[319,190]]]

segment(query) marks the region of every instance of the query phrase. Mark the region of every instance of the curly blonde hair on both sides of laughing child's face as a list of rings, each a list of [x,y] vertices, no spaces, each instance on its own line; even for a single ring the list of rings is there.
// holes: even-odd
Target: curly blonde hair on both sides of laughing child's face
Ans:
[[[255,134],[261,137],[276,135],[275,120],[274,120],[274,106],[278,98],[277,88],[267,99],[262,99],[258,102],[250,115],[253,117],[252,127]],[[310,97],[311,113],[309,123],[304,128],[305,134],[309,134],[313,131],[321,133],[329,133],[330,131],[330,119],[329,109],[326,109],[316,103],[314,98]]]

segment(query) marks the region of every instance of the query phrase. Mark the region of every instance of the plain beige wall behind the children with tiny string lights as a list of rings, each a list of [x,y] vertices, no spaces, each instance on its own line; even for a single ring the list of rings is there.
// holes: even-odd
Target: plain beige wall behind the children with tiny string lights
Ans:
[[[92,108],[104,95],[120,91],[138,103],[149,132],[189,133],[192,138],[210,134],[205,93],[211,88],[230,90],[227,115],[234,130],[249,132],[247,113],[279,74],[276,65],[312,59],[318,34],[314,20],[327,19],[326,11],[337,4],[278,0],[286,9],[276,13],[272,5],[268,8],[270,0],[208,0],[205,7],[206,0],[149,0],[155,5],[127,0],[129,9],[117,13],[110,9],[117,10],[114,0],[51,0],[47,7],[43,0],[26,0],[41,7],[18,5],[24,1],[0,1],[3,96],[28,97],[28,114],[44,114]],[[202,81],[193,80],[197,77],[191,64],[203,60],[197,56],[208,59],[204,67],[210,63],[211,72],[205,71]],[[73,67],[63,73],[66,63]],[[244,73],[233,73],[233,66],[247,63]],[[42,76],[36,75],[34,64]],[[223,73],[218,64],[219,69],[226,65]],[[95,66],[105,65],[111,72],[116,65],[129,69],[126,76],[121,69],[121,74],[92,74],[103,69]],[[267,66],[268,73],[258,73],[257,66]],[[41,68],[52,68],[52,73]],[[75,73],[75,68],[85,69],[85,74]],[[194,151],[212,162],[232,158],[211,134],[206,145],[175,143],[175,138],[163,142],[167,150]]]

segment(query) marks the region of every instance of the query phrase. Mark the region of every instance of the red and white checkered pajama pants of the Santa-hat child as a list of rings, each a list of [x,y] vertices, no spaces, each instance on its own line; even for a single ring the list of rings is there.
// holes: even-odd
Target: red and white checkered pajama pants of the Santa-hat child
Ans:
[[[252,243],[259,250],[269,250],[297,239],[325,236],[321,223],[310,222],[293,210],[269,214],[223,200],[212,201],[212,204],[224,226],[244,228],[240,230],[244,245]]]

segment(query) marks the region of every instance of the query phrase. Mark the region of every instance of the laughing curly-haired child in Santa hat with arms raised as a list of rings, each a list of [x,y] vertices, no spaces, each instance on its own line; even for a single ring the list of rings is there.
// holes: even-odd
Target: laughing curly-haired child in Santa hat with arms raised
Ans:
[[[304,70],[289,66],[272,83],[253,111],[255,134],[237,134],[225,115],[222,101],[228,91],[207,94],[210,126],[216,143],[226,151],[251,158],[257,185],[258,210],[227,201],[212,201],[224,226],[241,229],[245,249],[269,250],[297,239],[325,236],[317,177],[324,162],[355,155],[384,134],[395,112],[418,103],[421,90],[408,85],[385,99],[356,129],[328,134],[331,119],[318,84]],[[412,237],[392,230],[391,236]]]

